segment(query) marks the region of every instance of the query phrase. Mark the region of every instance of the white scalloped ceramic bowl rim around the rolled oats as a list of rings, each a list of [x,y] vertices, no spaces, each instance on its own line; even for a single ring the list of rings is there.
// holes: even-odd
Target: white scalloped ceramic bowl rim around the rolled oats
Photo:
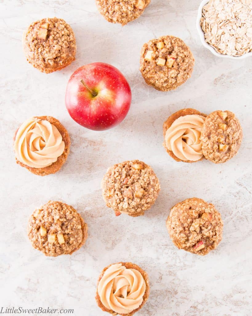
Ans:
[[[197,16],[197,21],[196,21],[196,27],[197,27],[197,31],[201,40],[201,43],[204,47],[206,47],[212,54],[214,54],[217,57],[221,57],[221,58],[230,58],[230,59],[243,59],[243,58],[247,58],[247,57],[251,57],[252,56],[252,52],[248,52],[245,53],[242,56],[230,56],[230,55],[223,55],[220,53],[217,53],[215,51],[215,49],[213,47],[211,47],[206,41],[205,41],[205,37],[204,37],[204,32],[200,26],[200,19],[202,17],[202,8],[205,4],[207,4],[209,2],[209,0],[203,0],[200,3],[199,9],[198,9],[198,16]]]

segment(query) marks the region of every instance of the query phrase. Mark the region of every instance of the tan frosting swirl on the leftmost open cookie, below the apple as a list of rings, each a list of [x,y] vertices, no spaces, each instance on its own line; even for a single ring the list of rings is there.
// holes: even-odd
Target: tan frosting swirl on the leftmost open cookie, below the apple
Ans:
[[[18,129],[14,150],[26,166],[44,168],[57,161],[65,149],[58,129],[47,120],[27,119]]]

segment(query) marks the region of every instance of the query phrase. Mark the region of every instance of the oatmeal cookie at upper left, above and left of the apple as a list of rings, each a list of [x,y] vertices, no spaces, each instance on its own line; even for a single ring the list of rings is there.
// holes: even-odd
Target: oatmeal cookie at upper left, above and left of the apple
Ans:
[[[23,48],[28,62],[49,74],[72,63],[76,41],[72,28],[64,20],[46,18],[29,26],[23,36]]]

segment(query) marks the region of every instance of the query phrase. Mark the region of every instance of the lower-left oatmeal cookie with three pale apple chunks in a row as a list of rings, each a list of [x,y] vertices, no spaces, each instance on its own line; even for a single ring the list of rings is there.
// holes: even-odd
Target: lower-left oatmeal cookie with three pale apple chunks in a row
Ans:
[[[35,249],[46,256],[57,257],[72,254],[84,245],[88,225],[72,206],[49,201],[33,212],[27,232]]]

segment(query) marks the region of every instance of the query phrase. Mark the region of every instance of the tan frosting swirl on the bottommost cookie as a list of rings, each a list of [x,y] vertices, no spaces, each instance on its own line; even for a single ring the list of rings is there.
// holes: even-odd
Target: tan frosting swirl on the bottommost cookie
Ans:
[[[127,314],[143,302],[146,284],[141,273],[121,263],[112,264],[98,284],[102,304],[119,314]]]

